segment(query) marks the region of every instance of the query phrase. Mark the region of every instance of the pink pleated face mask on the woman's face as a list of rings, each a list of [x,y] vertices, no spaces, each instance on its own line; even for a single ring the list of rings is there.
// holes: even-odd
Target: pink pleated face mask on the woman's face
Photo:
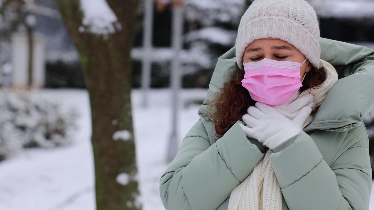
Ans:
[[[284,104],[303,86],[300,82],[300,67],[304,62],[300,64],[264,58],[257,62],[243,63],[245,75],[242,86],[255,101],[270,106]]]

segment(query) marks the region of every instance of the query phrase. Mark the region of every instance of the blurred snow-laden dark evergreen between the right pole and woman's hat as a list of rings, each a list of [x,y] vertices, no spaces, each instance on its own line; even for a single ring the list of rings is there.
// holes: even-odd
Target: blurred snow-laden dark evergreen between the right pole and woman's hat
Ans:
[[[237,27],[248,0],[186,0],[184,35],[190,59],[184,59],[184,74],[213,71],[218,57],[235,44]],[[197,59],[196,59],[197,58]]]

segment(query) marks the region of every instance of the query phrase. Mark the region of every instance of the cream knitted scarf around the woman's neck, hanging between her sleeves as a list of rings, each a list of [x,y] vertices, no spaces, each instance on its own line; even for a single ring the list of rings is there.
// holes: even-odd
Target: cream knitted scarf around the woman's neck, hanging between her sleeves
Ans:
[[[314,96],[313,109],[322,104],[328,90],[338,80],[338,74],[331,64],[320,60],[320,65],[327,70],[326,81],[318,89],[304,90],[297,97],[300,98],[307,93],[311,93]],[[309,115],[303,124],[303,128],[309,125],[313,117],[314,114]],[[282,192],[270,162],[272,153],[273,150],[269,149],[252,173],[233,189],[228,210],[282,210]]]

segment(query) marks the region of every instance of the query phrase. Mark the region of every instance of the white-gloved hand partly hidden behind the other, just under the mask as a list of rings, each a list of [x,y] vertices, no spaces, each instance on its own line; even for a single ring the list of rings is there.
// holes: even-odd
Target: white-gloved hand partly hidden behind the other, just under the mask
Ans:
[[[300,92],[295,94],[295,96],[291,100],[289,100],[289,102],[272,107],[283,116],[285,116],[288,120],[293,120],[300,109],[304,106],[309,106],[312,110],[315,108],[315,105],[313,103],[314,96],[312,94],[307,93],[306,95],[303,95],[295,100],[295,98],[297,98],[299,95]]]

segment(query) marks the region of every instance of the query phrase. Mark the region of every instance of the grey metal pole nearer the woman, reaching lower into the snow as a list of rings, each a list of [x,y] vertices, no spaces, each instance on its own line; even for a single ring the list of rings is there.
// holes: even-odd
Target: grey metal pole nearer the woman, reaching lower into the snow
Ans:
[[[178,0],[177,0],[178,1]],[[179,55],[182,49],[182,34],[183,34],[183,8],[181,4],[175,4],[173,7],[172,16],[172,47],[174,49],[174,59],[172,60],[171,68],[171,87],[172,87],[172,132],[168,145],[167,161],[172,161],[178,152],[178,108],[181,87],[181,68]]]

